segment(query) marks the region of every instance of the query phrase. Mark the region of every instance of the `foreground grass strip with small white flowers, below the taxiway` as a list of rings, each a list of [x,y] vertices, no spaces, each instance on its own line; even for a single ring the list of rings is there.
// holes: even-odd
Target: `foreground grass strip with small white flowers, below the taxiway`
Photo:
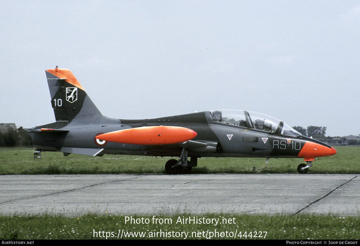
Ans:
[[[184,217],[183,217],[184,216]],[[359,217],[336,217],[316,215],[269,216],[203,214],[198,218],[230,219],[231,223],[181,224],[179,217],[193,218],[190,214],[177,214],[168,223],[153,223],[151,216],[132,215],[143,218],[143,223],[125,224],[125,216],[119,214],[87,214],[79,218],[64,216],[14,216],[0,217],[0,239],[358,239]],[[195,216],[195,218],[196,218]],[[130,217],[130,215],[129,215]],[[146,221],[145,219],[149,219]],[[170,220],[171,219],[171,223]],[[204,221],[205,221],[204,220]],[[160,221],[160,220],[159,220]],[[147,223],[148,222],[148,223]],[[235,223],[233,223],[235,222]],[[160,234],[161,231],[163,234]],[[96,233],[94,233],[96,232]],[[101,232],[101,233],[99,233]],[[104,232],[104,233],[103,233]],[[108,232],[108,233],[107,233]],[[113,233],[111,233],[113,232]],[[165,234],[166,232],[167,234]],[[170,234],[168,234],[170,232]],[[181,234],[183,232],[183,234]],[[187,232],[187,234],[186,234]],[[217,234],[215,233],[217,232]],[[261,234],[259,233],[261,232]],[[265,233],[266,232],[266,233]],[[140,234],[142,233],[142,234]],[[95,236],[95,237],[94,237]],[[108,238],[106,238],[108,236]],[[241,237],[240,237],[241,236]],[[254,237],[255,236],[255,237]],[[259,237],[260,236],[260,237]]]

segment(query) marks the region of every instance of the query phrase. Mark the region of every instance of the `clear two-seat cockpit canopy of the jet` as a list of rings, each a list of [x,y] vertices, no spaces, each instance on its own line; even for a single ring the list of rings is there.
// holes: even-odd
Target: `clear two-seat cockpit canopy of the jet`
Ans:
[[[221,124],[257,129],[284,136],[301,135],[284,122],[262,113],[244,110],[210,110],[210,115],[212,121]]]

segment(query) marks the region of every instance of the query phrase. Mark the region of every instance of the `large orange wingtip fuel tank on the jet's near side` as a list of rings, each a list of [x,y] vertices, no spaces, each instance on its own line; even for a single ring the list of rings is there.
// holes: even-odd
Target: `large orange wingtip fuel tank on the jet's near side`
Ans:
[[[95,138],[123,144],[160,145],[183,143],[197,135],[195,131],[179,126],[144,126],[112,131]]]

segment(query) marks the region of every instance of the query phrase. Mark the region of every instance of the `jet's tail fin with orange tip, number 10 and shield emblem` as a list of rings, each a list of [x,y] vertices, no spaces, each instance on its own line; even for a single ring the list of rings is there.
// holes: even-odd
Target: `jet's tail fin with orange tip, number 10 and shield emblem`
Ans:
[[[56,121],[104,117],[70,70],[56,66],[46,70],[46,78]]]

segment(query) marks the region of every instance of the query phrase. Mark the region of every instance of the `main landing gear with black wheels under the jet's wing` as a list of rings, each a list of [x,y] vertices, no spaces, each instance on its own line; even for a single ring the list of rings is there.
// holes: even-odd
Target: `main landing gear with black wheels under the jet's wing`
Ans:
[[[180,154],[180,159],[168,160],[165,164],[165,171],[168,174],[188,174],[193,167],[197,166],[197,157],[191,157],[191,163],[188,161],[188,151],[183,148]]]

